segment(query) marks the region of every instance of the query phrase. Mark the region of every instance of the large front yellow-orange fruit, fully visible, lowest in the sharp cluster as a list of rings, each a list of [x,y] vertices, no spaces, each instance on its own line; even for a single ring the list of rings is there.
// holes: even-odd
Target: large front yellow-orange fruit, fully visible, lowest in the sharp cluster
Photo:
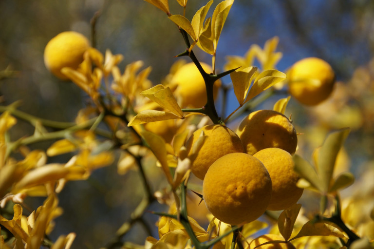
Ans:
[[[269,204],[270,175],[252,155],[226,154],[206,172],[203,198],[206,208],[224,223],[249,223],[259,218]]]

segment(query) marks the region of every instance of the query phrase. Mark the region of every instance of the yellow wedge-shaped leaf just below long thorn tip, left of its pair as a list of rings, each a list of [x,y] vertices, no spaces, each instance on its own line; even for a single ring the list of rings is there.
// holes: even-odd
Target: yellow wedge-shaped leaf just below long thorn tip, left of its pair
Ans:
[[[257,71],[257,67],[247,67],[242,70],[234,71],[230,74],[234,93],[240,105],[243,104],[245,96],[248,93],[252,77]]]

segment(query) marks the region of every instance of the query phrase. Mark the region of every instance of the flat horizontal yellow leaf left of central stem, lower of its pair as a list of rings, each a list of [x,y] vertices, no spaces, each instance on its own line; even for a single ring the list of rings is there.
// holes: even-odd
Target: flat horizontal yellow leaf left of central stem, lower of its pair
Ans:
[[[145,124],[150,122],[156,122],[161,120],[167,119],[175,119],[180,118],[177,115],[172,113],[163,112],[163,111],[156,111],[156,110],[145,110],[138,113],[138,115],[134,116],[127,126],[133,126],[138,124]]]

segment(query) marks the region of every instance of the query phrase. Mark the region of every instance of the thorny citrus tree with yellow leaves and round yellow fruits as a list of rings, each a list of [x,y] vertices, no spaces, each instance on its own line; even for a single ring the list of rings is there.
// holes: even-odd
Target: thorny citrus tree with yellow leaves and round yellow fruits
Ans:
[[[121,72],[122,55],[109,49],[103,54],[95,42],[68,31],[50,40],[44,61],[52,74],[86,94],[87,105],[75,120],[38,118],[19,111],[17,102],[0,106],[0,248],[74,248],[75,232],[49,237],[56,217],[64,215],[59,193],[113,163],[120,174],[137,168],[144,193],[131,219],[104,246],[108,249],[374,248],[373,186],[363,191],[358,185],[357,194],[341,196],[354,183],[353,173],[339,162],[350,128],[336,127],[306,154],[300,127],[285,115],[290,98],[317,106],[335,97],[332,67],[309,57],[280,72],[278,38],[271,38],[243,57],[227,57],[218,69],[219,38],[234,0],[212,11],[210,0],[192,19],[172,14],[168,0],[146,1],[181,34],[181,53],[163,82],[151,82],[151,68],[140,60]],[[177,2],[185,13],[187,0]],[[196,50],[211,63],[200,61]],[[236,99],[227,99],[228,91]],[[218,114],[219,93],[223,106],[237,101],[231,114]],[[270,97],[277,98],[273,109],[261,109]],[[19,120],[35,132],[12,140],[9,131]],[[47,150],[32,146],[41,141],[53,144]],[[52,162],[62,154],[69,159]],[[151,186],[150,169],[162,172],[165,187]],[[302,201],[305,195],[318,196],[317,210]],[[42,196],[43,204],[25,212],[25,198],[35,196]],[[193,197],[206,209],[198,210]],[[167,208],[152,210],[155,203]],[[158,236],[151,233],[144,245],[123,240],[146,212],[159,216],[153,228]]]

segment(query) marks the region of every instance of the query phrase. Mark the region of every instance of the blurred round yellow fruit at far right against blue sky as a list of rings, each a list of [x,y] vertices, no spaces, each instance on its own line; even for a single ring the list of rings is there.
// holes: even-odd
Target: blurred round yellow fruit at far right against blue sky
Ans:
[[[317,105],[333,91],[335,73],[326,61],[308,57],[296,62],[287,72],[289,92],[304,105]]]

